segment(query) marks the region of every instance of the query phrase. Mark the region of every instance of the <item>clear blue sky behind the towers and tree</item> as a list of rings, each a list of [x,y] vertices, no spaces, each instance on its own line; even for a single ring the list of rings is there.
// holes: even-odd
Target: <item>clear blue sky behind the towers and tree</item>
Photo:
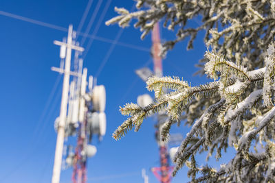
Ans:
[[[0,11],[61,27],[68,27],[72,23],[76,29],[87,2],[1,0]],[[85,32],[97,2],[92,3],[82,32]],[[103,0],[89,34],[94,31],[106,3],[107,0]],[[134,1],[111,1],[104,21],[116,15],[113,10],[115,6],[131,9],[133,3]],[[104,21],[96,36],[114,40],[120,27],[107,27]],[[61,77],[61,82],[58,82],[55,93],[49,100],[54,84],[60,79],[58,73],[51,71],[50,67],[59,66],[60,63],[59,47],[53,41],[62,40],[67,33],[3,15],[0,15],[0,23],[0,182],[50,182],[56,144],[54,119],[59,114],[62,84]],[[163,40],[173,38],[173,32],[163,30]],[[205,82],[205,77],[192,76],[197,71],[194,64],[206,50],[202,38],[203,35],[200,34],[195,41],[195,50],[186,51],[186,42],[183,42],[168,53],[163,62],[164,75],[184,77],[192,85]],[[145,49],[151,47],[151,37],[140,40],[140,31],[133,27],[124,29],[118,41]],[[96,75],[110,47],[109,42],[94,40],[84,60],[89,75]],[[88,182],[142,182],[142,168],[146,169],[149,182],[157,182],[149,171],[151,167],[159,166],[153,119],[145,120],[140,132],[129,132],[121,141],[111,138],[112,132],[125,120],[118,112],[119,106],[129,101],[135,102],[138,95],[148,93],[144,82],[134,73],[135,69],[145,64],[153,69],[148,51],[115,45],[98,75],[98,84],[104,84],[107,89],[107,133],[101,143],[93,143],[98,148],[98,153],[88,160]],[[173,129],[173,132],[181,132],[184,136],[187,131],[187,127],[183,125],[179,129]],[[71,173],[72,169],[62,171],[61,182],[70,182]],[[173,182],[186,181],[184,168]]]

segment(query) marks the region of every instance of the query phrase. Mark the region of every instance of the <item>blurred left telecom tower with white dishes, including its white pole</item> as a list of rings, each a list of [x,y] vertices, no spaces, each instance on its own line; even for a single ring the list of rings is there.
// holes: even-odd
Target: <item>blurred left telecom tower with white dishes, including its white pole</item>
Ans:
[[[64,80],[61,112],[55,121],[57,140],[52,183],[60,181],[62,162],[65,162],[66,168],[73,167],[72,182],[85,183],[87,158],[96,154],[96,147],[91,145],[91,138],[93,135],[98,135],[101,141],[106,132],[105,88],[103,85],[93,86],[92,76],[89,76],[87,82],[87,69],[83,69],[83,60],[78,59],[84,49],[78,46],[76,40],[73,40],[75,35],[72,25],[69,25],[67,39],[63,42],[54,41],[55,45],[61,46],[61,66],[52,67],[52,71],[63,73]],[[75,50],[75,70],[78,69],[78,71],[70,71],[72,49]],[[63,68],[64,60],[65,68]],[[70,82],[71,75],[74,76],[72,82]],[[68,146],[69,150],[66,151],[63,161],[64,140],[68,136],[77,136],[76,147]]]

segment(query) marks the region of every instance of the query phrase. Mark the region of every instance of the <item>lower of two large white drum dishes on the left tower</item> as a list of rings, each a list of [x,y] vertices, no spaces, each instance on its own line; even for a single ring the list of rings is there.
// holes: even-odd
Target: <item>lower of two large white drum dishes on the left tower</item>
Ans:
[[[93,112],[89,115],[87,122],[91,134],[98,134],[100,136],[106,134],[106,114],[104,112]]]

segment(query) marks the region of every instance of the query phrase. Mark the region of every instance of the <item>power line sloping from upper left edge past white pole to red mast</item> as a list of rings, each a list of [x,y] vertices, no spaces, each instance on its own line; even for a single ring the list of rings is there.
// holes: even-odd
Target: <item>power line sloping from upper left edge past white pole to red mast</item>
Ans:
[[[43,26],[43,27],[48,27],[50,29],[56,29],[56,30],[61,31],[61,32],[68,32],[68,29],[65,28],[65,27],[61,27],[61,26],[54,25],[54,24],[51,24],[51,23],[45,23],[43,21],[37,21],[37,20],[30,19],[30,18],[27,18],[27,17],[24,17],[24,16],[19,16],[17,14],[12,14],[12,13],[9,13],[9,12],[4,12],[4,11],[1,11],[1,10],[0,10],[0,15],[8,16],[8,17],[10,17],[12,19],[17,19],[17,20],[20,20],[20,21],[25,21],[25,22],[32,23],[32,24],[35,24],[35,25],[40,25],[40,26]],[[90,34],[85,34],[83,32],[78,32],[78,35],[79,36],[87,36],[87,38],[94,38],[95,40],[99,40],[99,41],[102,41],[102,42],[108,42],[108,43],[111,43],[111,44],[113,44],[113,42],[115,42],[115,40],[111,40],[111,39],[108,39],[108,38],[102,38],[100,36],[94,36],[94,35],[90,35]],[[131,45],[131,44],[125,43],[125,42],[116,42],[116,45],[120,45],[120,46],[123,46],[123,47],[129,47],[131,49],[136,49],[136,50],[140,50],[140,51],[150,52],[150,49],[148,49],[148,48],[139,47],[139,46],[136,46],[136,45]]]

